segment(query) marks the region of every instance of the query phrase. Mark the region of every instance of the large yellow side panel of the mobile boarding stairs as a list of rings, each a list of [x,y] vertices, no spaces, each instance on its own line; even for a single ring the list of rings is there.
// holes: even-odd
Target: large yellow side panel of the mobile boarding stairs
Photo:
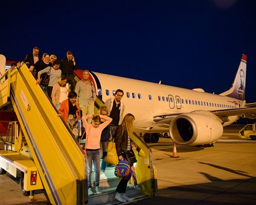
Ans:
[[[0,92],[0,107],[13,104],[51,203],[85,204],[85,153],[27,66],[9,73]]]

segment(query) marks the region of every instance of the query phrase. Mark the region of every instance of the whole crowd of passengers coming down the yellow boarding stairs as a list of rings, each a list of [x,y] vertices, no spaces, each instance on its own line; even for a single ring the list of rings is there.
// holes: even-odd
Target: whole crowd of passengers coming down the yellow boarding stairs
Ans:
[[[114,98],[107,99],[104,106],[101,106],[97,114],[94,113],[94,102],[96,100],[95,87],[89,80],[89,71],[83,71],[83,79],[76,82],[74,70],[77,70],[72,51],[66,52],[66,58],[57,59],[56,55],[44,53],[39,55],[39,48],[35,46],[33,52],[27,54],[24,61],[11,63],[11,71],[21,68],[26,64],[29,71],[36,79],[36,84],[40,84],[43,75],[49,74],[48,86],[42,86],[54,106],[58,110],[58,115],[68,124],[69,128],[78,120],[78,112],[82,110],[83,127],[85,127],[86,144],[85,153],[87,156],[88,168],[88,195],[94,194],[92,191],[92,163],[95,169],[95,192],[101,194],[100,180],[106,180],[105,174],[107,155],[107,145],[109,141],[116,142],[117,156],[119,160],[127,160],[127,151],[135,151],[136,145],[130,139],[133,133],[133,121],[135,117],[128,113],[124,116],[124,103],[121,101],[124,92],[117,89]],[[75,134],[75,133],[74,133]],[[102,157],[100,157],[102,153]],[[141,190],[137,184],[135,169],[133,169],[134,188]],[[115,199],[120,202],[131,201],[126,196],[126,187],[129,180],[122,178],[117,186]]]

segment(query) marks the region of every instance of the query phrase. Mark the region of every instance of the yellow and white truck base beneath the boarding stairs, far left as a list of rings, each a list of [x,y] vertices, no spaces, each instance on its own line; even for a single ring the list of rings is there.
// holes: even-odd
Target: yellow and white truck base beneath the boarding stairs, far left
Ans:
[[[28,149],[21,126],[18,121],[13,121],[8,124],[4,150],[0,151],[0,174],[9,172],[16,177],[18,170],[21,171],[22,194],[30,194],[30,198],[33,198],[33,190],[43,189],[42,181]]]

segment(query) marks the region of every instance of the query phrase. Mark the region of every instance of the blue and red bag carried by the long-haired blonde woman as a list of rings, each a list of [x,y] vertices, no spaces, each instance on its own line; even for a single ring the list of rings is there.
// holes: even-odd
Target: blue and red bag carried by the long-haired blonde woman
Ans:
[[[119,160],[117,166],[115,166],[115,175],[119,178],[130,180],[130,177],[132,177],[132,172],[130,162],[126,160]]]

